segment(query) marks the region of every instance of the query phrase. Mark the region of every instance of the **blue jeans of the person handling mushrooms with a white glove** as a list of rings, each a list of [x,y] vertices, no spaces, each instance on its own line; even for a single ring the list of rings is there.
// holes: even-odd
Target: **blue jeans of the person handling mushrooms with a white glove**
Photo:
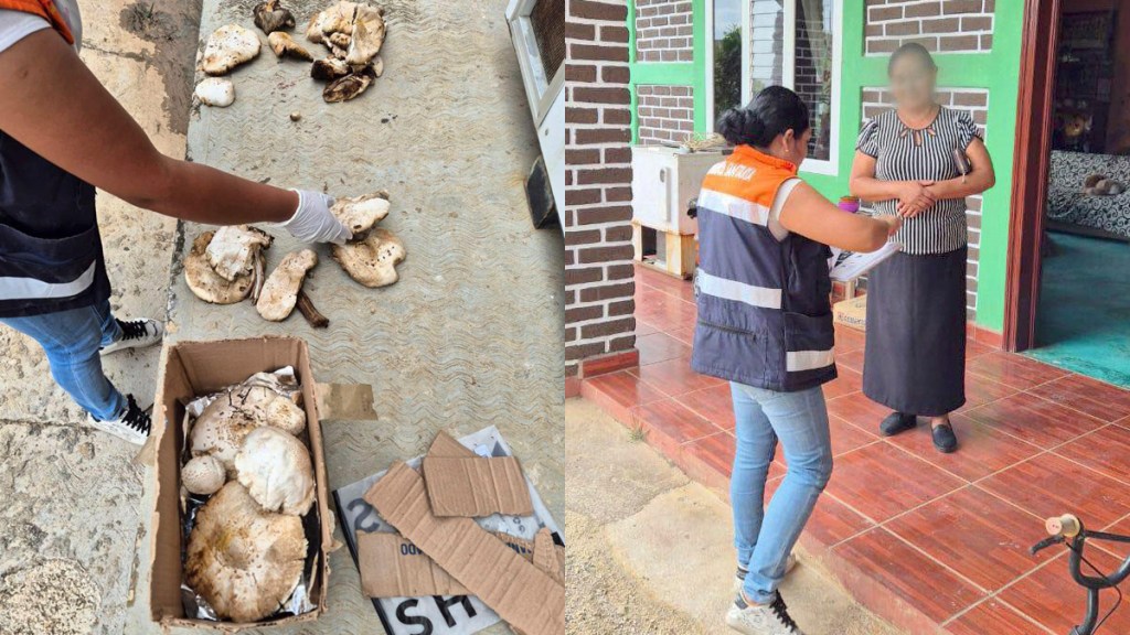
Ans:
[[[98,355],[99,348],[122,337],[108,301],[58,313],[0,318],[0,323],[40,342],[51,376],[95,419],[116,419],[125,411],[125,398],[102,372]]]

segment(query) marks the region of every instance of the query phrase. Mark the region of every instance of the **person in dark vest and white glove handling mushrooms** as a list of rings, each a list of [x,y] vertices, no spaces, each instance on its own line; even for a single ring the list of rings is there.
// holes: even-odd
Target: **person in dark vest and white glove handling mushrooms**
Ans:
[[[111,312],[95,188],[197,223],[273,221],[306,242],[350,233],[324,194],[162,155],[79,60],[80,42],[73,0],[0,0],[0,323],[43,347],[93,426],[140,444],[149,414],[101,355],[157,343],[163,325]]]

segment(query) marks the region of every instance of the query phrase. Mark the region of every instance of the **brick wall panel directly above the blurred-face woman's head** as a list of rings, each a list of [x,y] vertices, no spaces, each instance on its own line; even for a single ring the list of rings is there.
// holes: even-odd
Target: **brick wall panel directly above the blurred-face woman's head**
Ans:
[[[992,49],[996,0],[867,0],[867,53],[884,54],[907,42],[929,51]]]

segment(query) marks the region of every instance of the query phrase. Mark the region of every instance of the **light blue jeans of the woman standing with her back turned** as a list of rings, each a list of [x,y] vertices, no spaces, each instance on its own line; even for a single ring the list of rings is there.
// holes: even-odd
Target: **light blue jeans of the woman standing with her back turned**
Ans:
[[[832,476],[828,411],[820,386],[775,392],[731,382],[730,389],[738,437],[730,478],[733,546],[738,566],[749,572],[742,586],[746,597],[768,603]],[[777,440],[789,471],[766,508],[765,480]]]

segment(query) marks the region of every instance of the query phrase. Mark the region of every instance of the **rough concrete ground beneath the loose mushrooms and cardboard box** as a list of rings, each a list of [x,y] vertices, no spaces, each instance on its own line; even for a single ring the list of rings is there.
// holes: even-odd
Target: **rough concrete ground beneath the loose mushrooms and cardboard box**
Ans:
[[[287,6],[305,24],[329,3]],[[537,146],[504,3],[379,3],[390,25],[385,75],[358,99],[325,105],[304,64],[279,63],[264,45],[233,76],[236,104],[199,112],[199,33],[250,26],[253,1],[82,0],[85,61],[162,151],[339,195],[386,188],[385,224],[409,253],[401,281],[371,292],[319,249],[308,289],[330,329],[314,332],[297,314],[268,324],[250,304],[208,307],[186,293],[179,260],[199,227],[101,193],[112,304],[123,316],[168,319],[169,339],[297,334],[319,381],[373,385],[374,420],[323,425],[331,488],[420,453],[436,429],[495,424],[562,521],[563,252],[559,234],[534,232],[525,211]],[[273,233],[271,267],[294,247]],[[114,356],[107,374],[151,401],[158,358]],[[148,608],[151,469],[133,463],[132,446],[84,427],[38,348],[3,328],[0,384],[0,634],[158,633]],[[347,551],[330,564],[328,614],[272,633],[380,632]]]

